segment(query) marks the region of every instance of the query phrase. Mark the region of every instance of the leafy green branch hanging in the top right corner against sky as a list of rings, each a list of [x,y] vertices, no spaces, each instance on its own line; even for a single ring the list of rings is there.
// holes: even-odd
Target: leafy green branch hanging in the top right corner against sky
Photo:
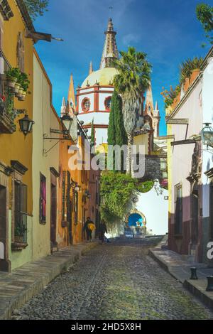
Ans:
[[[209,43],[213,44],[213,7],[208,4],[198,4],[196,7],[197,19],[202,24]]]

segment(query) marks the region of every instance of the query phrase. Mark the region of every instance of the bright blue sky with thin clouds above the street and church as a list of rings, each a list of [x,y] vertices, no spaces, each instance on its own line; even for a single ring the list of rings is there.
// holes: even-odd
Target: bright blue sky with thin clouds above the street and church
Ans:
[[[71,72],[75,87],[88,75],[89,62],[98,70],[108,18],[114,21],[119,50],[133,45],[153,65],[153,98],[160,107],[160,135],[166,133],[162,87],[178,83],[182,60],[205,55],[204,32],[195,15],[201,0],[50,0],[49,10],[35,21],[37,31],[64,42],[39,41],[35,48],[53,83],[53,104],[60,112]],[[204,1],[213,6],[213,0]],[[113,6],[110,13],[109,6]]]

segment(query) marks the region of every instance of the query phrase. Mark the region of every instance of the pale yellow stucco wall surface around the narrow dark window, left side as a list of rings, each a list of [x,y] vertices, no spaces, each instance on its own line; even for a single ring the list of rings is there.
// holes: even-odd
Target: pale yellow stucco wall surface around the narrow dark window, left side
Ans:
[[[50,167],[59,169],[59,144],[51,147],[56,141],[43,140],[43,134],[50,134],[50,128],[59,129],[58,118],[50,105],[50,82],[38,61],[33,57],[34,90],[33,90],[33,259],[38,259],[50,253]],[[49,151],[43,154],[43,149]],[[40,173],[46,178],[47,203],[46,223],[40,224],[39,198]],[[58,222],[58,219],[57,219]]]

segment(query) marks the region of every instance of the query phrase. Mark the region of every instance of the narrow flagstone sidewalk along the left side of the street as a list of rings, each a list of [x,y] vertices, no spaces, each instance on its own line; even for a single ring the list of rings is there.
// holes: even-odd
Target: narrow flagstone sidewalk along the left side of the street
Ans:
[[[0,271],[0,320],[10,319],[13,310],[23,306],[95,246],[96,241],[76,244],[38,261],[24,264],[11,274]]]

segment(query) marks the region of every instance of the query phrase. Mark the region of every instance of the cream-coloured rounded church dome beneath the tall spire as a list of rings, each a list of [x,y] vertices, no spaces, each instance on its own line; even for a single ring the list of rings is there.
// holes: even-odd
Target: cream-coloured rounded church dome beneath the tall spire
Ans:
[[[118,74],[116,68],[102,68],[88,75],[88,77],[82,83],[82,88],[94,86],[97,82],[100,86],[108,86],[110,82],[113,82],[114,76]]]

